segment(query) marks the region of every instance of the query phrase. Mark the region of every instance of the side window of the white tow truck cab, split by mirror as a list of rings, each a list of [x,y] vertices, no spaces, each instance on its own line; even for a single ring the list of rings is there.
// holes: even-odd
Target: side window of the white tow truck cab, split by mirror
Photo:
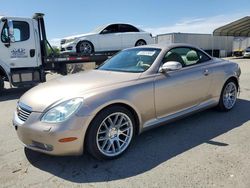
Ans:
[[[27,22],[14,21],[13,27],[14,27],[15,42],[25,41],[30,38],[30,28]],[[8,42],[7,24],[4,25],[4,28],[2,30],[1,40],[4,43]]]

